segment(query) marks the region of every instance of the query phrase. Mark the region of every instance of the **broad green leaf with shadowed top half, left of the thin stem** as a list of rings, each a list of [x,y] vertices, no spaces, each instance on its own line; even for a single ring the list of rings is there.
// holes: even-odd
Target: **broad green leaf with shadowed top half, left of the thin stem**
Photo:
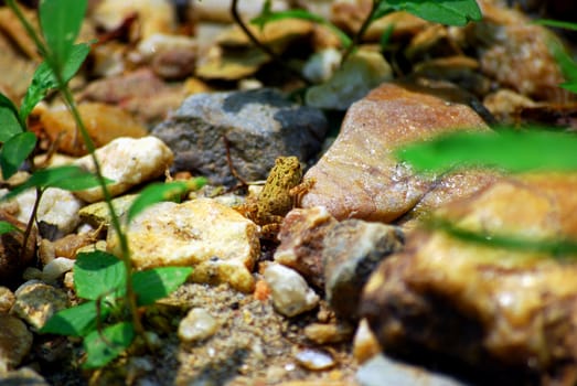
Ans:
[[[126,287],[122,260],[105,251],[81,253],[74,265],[74,287],[78,297],[98,300]]]

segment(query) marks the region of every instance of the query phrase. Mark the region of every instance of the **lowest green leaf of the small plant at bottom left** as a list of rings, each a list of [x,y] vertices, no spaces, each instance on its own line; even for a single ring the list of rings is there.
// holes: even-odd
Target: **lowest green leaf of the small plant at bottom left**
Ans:
[[[93,331],[84,339],[87,358],[84,368],[98,368],[120,355],[135,339],[135,328],[129,322],[110,325],[103,331]]]

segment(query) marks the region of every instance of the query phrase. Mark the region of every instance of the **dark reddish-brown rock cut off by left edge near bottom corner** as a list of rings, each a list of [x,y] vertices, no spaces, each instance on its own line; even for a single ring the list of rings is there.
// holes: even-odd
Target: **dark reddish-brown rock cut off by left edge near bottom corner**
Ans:
[[[24,322],[12,315],[0,314],[0,366],[18,367],[30,353],[32,340],[32,333]]]

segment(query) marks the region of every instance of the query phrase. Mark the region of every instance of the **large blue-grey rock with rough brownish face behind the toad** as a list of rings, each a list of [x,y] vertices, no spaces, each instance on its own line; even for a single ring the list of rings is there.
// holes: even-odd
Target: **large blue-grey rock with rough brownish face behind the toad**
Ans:
[[[233,184],[226,160],[247,181],[266,179],[280,156],[306,161],[316,154],[327,131],[318,109],[301,107],[273,89],[196,94],[152,130],[174,152],[175,171]]]

